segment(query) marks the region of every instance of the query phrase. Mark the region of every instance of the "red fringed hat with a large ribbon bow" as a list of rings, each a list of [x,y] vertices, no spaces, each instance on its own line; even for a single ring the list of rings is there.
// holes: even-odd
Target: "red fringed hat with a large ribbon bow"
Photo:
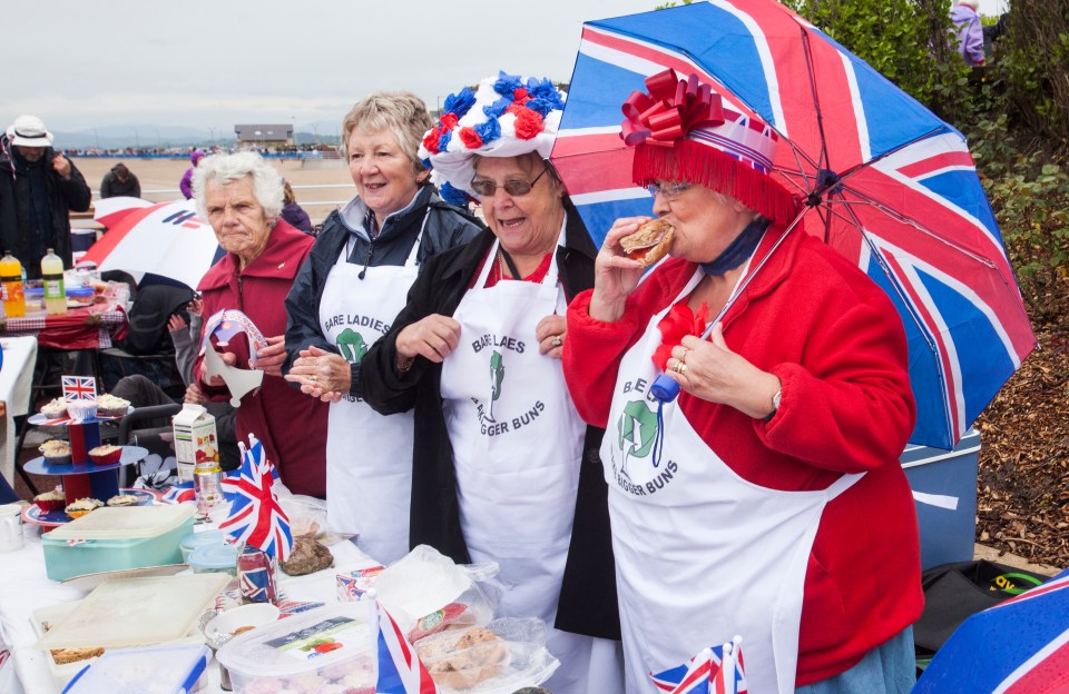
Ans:
[[[668,69],[647,78],[646,89],[622,106],[620,137],[635,148],[637,185],[687,181],[728,195],[777,226],[794,219],[798,200],[771,176],[779,136],[768,123],[724,107],[697,75],[684,80]]]

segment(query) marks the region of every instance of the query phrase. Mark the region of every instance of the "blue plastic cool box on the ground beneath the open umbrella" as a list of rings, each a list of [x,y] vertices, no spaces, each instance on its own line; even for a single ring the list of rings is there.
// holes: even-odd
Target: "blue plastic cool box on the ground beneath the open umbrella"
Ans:
[[[900,460],[916,505],[921,567],[972,561],[980,434],[969,429],[953,450],[908,446]]]

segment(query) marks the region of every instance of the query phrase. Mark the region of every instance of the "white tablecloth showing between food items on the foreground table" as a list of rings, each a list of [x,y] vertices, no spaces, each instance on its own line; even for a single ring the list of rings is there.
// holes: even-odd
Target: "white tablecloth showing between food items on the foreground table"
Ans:
[[[207,529],[206,526],[197,527],[198,531],[202,528]],[[46,576],[45,553],[38,528],[24,526],[24,547],[0,554],[0,650],[8,647],[12,654],[8,662],[0,664],[0,692],[21,694],[14,688],[17,684],[12,684],[10,668],[13,665],[24,694],[58,694],[60,690],[49,671],[47,656],[33,647],[38,636],[32,626],[32,614],[41,607],[80,599],[86,594]],[[349,542],[333,545],[331,552],[334,554],[333,569],[308,576],[287,576],[279,572],[279,591],[294,601],[336,603],[336,573],[375,565]],[[215,661],[208,664],[208,673],[209,686],[205,694],[222,692],[219,668]]]

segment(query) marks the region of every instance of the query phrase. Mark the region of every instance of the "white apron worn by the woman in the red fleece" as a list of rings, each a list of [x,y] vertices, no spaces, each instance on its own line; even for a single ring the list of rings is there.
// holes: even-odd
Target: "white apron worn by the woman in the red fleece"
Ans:
[[[695,277],[676,301],[702,279]],[[673,301],[675,304],[676,301]],[[660,345],[654,316],[624,355],[601,460],[621,605],[627,692],[654,692],[647,673],[743,637],[752,694],[794,692],[805,571],[824,506],[862,475],[827,489],[781,492],[736,475],[702,440],[678,400],[664,407],[657,448]]]

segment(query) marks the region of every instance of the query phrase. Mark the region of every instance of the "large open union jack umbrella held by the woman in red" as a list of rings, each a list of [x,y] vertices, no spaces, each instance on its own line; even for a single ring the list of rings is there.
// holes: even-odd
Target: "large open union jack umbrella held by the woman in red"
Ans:
[[[773,0],[714,0],[583,24],[551,159],[596,242],[650,215],[621,105],[674,69],[778,137],[773,176],[806,232],[891,297],[910,344],[911,442],[950,449],[1032,350],[964,137]]]

